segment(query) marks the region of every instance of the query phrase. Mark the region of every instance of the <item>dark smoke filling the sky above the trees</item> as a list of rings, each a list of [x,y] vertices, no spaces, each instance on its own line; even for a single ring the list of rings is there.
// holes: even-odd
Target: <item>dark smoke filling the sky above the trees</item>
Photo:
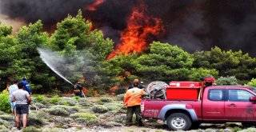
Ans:
[[[94,0],[6,0],[0,1],[1,14],[26,22],[42,19],[52,31],[67,14],[83,10],[94,28],[118,43],[120,32],[137,0],[106,0],[97,10],[86,10]],[[242,50],[256,56],[256,1],[254,0],[146,0],[151,16],[161,18],[166,32],[160,42],[182,46],[184,50]]]

